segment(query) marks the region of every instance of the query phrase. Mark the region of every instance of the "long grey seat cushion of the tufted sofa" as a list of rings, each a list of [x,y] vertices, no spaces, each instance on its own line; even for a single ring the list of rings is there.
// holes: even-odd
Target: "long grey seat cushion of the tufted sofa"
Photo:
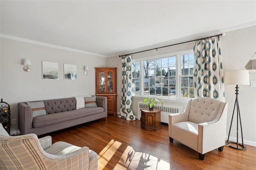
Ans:
[[[72,111],[64,111],[60,113],[42,115],[33,118],[33,128],[45,127],[48,125],[54,125],[56,123],[61,123],[73,119],[79,119],[81,117],[86,117],[89,115],[94,115],[104,112],[103,107],[87,107],[82,109],[76,109]]]

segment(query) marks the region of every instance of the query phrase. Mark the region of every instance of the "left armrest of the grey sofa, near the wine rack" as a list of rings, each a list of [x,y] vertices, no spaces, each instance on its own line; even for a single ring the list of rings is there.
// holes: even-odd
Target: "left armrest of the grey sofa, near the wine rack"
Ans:
[[[32,129],[33,115],[30,106],[24,102],[18,103],[18,128],[22,135],[30,133]]]

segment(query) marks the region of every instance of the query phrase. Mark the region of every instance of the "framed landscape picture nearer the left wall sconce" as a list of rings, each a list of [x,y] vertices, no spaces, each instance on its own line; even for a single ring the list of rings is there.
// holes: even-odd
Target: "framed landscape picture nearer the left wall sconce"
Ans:
[[[59,79],[59,64],[42,61],[43,79],[58,80]]]

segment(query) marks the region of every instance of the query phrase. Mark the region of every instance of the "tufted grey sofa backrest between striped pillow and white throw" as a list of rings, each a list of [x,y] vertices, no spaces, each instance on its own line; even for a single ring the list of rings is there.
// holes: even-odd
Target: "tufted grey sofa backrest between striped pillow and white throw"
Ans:
[[[46,114],[59,113],[76,109],[76,98],[44,100]]]

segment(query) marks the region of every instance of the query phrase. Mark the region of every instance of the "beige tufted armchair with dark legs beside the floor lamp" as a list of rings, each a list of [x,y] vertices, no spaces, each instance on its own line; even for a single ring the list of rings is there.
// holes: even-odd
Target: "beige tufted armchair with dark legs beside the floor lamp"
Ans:
[[[217,149],[222,151],[226,138],[228,104],[213,98],[194,98],[182,113],[169,115],[168,132],[170,142],[177,140],[198,152],[200,160],[204,154]]]

